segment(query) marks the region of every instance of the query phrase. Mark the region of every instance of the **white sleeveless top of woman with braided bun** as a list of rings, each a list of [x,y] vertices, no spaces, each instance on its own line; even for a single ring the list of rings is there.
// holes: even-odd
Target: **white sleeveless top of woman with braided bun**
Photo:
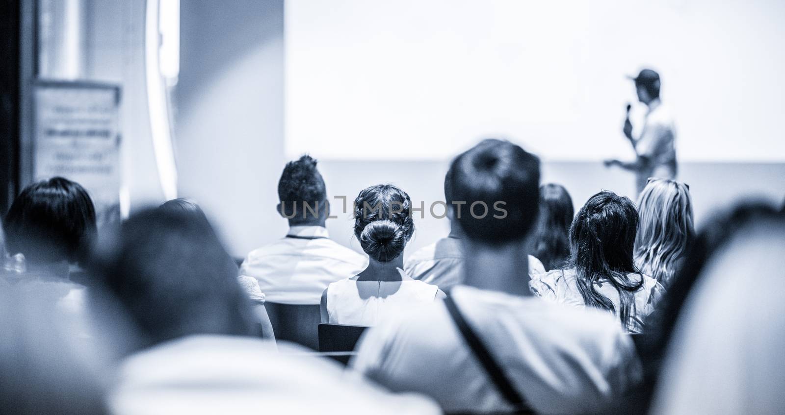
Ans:
[[[433,303],[439,287],[406,278],[403,281],[344,279],[327,288],[330,324],[374,326],[379,319]]]

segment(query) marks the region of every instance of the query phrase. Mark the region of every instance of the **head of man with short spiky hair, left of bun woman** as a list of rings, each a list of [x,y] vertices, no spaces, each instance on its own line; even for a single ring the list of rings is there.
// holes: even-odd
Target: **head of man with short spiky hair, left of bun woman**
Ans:
[[[289,220],[290,226],[324,226],[330,203],[316,159],[304,155],[287,163],[278,181],[278,198],[278,212]]]

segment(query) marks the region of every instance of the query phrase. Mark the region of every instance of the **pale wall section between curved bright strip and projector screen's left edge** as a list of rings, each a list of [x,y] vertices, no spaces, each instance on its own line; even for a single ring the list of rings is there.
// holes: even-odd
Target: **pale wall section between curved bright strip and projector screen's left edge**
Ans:
[[[283,236],[283,0],[181,2],[174,93],[181,196],[195,198],[238,256]]]

